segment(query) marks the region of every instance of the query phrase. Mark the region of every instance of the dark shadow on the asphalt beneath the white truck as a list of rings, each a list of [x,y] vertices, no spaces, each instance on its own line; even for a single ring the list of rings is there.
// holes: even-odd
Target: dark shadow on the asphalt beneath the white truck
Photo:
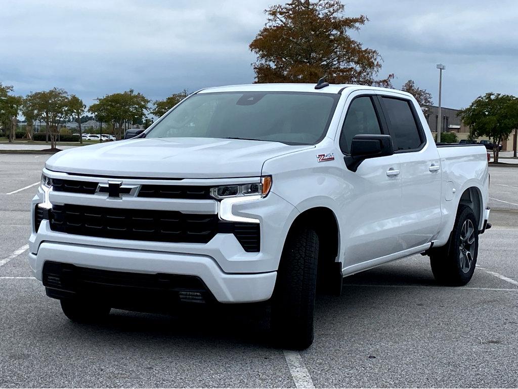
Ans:
[[[345,278],[340,297],[316,297],[315,339],[320,332],[326,332],[328,323],[348,328],[369,320],[377,309],[400,304],[401,294],[408,295],[406,286],[410,285],[437,286],[431,272],[394,265]],[[92,340],[101,332],[110,339],[131,342],[136,348],[153,344],[161,348],[179,344],[193,348],[274,347],[270,342],[268,304],[184,305],[170,314],[112,310],[103,323],[70,326],[90,329],[85,335]]]

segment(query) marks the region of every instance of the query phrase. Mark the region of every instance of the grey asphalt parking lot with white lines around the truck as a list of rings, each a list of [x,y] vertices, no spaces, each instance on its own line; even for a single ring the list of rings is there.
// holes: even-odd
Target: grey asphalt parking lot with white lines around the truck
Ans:
[[[467,286],[438,286],[421,255],[359,273],[317,298],[315,341],[292,353],[268,343],[264,306],[68,321],[26,257],[47,158],[0,154],[0,387],[518,386],[516,167],[490,168],[493,228]]]

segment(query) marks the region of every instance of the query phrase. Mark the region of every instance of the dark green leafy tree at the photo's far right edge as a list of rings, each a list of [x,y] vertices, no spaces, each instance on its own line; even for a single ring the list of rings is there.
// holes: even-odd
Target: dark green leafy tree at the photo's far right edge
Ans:
[[[491,138],[494,161],[498,162],[500,143],[518,127],[518,98],[489,92],[477,97],[458,116],[469,126],[470,135]]]

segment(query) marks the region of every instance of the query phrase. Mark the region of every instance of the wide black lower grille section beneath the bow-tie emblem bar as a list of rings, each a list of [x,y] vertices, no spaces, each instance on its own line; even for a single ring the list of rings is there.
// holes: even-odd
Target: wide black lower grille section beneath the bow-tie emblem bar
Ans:
[[[80,205],[54,205],[49,215],[50,228],[66,234],[100,238],[207,243],[216,234],[234,234],[247,252],[258,252],[261,246],[258,223],[232,223],[219,220],[215,214],[192,214],[178,211],[119,209]],[[39,222],[38,222],[39,221]]]

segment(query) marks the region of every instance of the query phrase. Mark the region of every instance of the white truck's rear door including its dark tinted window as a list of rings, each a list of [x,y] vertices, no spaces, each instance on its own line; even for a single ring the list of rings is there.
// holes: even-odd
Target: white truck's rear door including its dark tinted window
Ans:
[[[419,106],[412,100],[379,97],[392,136],[401,171],[401,218],[399,239],[403,249],[421,246],[434,239],[441,222],[442,175],[439,152],[427,140]]]

